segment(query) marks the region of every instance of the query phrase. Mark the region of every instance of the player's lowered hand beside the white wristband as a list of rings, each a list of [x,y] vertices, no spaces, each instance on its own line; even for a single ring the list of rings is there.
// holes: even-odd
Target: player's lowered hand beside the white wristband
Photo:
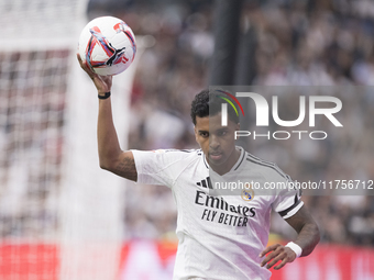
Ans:
[[[260,257],[262,258],[268,254],[263,261],[261,262],[261,267],[266,266],[267,269],[272,268],[276,262],[279,260],[282,261],[279,265],[274,267],[274,269],[283,268],[287,262],[293,262],[296,259],[296,254],[288,247],[285,247],[280,244],[274,244],[272,246],[266,247],[261,254]]]

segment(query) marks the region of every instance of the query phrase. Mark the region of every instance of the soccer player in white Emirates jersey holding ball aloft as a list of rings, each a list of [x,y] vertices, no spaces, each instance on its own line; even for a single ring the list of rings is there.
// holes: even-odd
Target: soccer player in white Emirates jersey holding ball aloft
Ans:
[[[94,74],[78,55],[99,96],[98,149],[100,167],[129,180],[165,184],[178,210],[178,250],[173,279],[270,279],[270,268],[283,268],[309,255],[319,242],[319,229],[300,200],[298,190],[261,195],[244,188],[238,195],[221,195],[216,181],[289,182],[276,165],[235,146],[239,119],[228,110],[221,125],[218,92],[198,93],[191,104],[196,150],[141,152],[120,148],[112,122],[112,77]],[[227,194],[227,193],[226,193]],[[266,247],[272,209],[298,233],[295,242]],[[266,255],[267,254],[267,255]]]

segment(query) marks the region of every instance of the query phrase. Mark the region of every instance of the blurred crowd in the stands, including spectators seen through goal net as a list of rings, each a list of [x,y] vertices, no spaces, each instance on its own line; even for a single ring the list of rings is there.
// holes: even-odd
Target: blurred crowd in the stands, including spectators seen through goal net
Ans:
[[[108,13],[121,18],[146,47],[132,89],[129,148],[198,148],[189,110],[195,94],[209,86],[213,7],[212,0],[90,1],[89,19]],[[304,96],[314,92],[314,86],[324,89],[321,94],[339,97],[343,104],[337,115],[344,127],[334,127],[323,117],[317,120],[316,130],[328,133],[324,141],[249,138],[248,150],[276,163],[299,182],[345,179],[369,187],[374,179],[374,91],[370,87],[374,83],[374,2],[243,0],[241,31],[251,31],[255,42],[254,49],[249,49],[255,58],[253,78],[246,85],[309,88]],[[38,57],[43,55],[48,57]],[[46,65],[51,57],[55,59]],[[66,57],[59,52],[0,57],[0,74],[15,85],[15,91],[7,92],[0,104],[0,117],[6,120],[0,133],[0,184],[25,186],[22,190],[10,187],[9,193],[0,188],[1,236],[38,236],[43,228],[53,232],[58,226],[53,199],[58,189],[50,186],[59,186],[61,180],[65,100],[59,93],[66,90]],[[33,75],[54,80],[43,79],[41,85],[36,79],[34,83]],[[298,100],[293,96],[280,100],[282,119],[295,120]],[[42,114],[32,114],[36,111]],[[19,115],[25,120],[18,120]],[[25,125],[18,127],[18,122]],[[305,122],[298,128],[310,131],[307,125]],[[254,122],[246,127],[256,130]],[[284,127],[272,124],[270,130]],[[13,163],[23,168],[21,176],[12,171]],[[46,189],[56,195],[46,200]],[[176,205],[168,188],[128,183],[125,190],[125,238],[176,238]],[[9,205],[16,204],[9,199],[14,191],[24,198],[15,219],[14,210],[8,213]],[[374,197],[365,195],[369,193],[361,188],[354,195],[326,190],[302,197],[320,225],[322,242],[374,245]],[[292,238],[292,227],[276,213],[273,220],[272,233]]]

